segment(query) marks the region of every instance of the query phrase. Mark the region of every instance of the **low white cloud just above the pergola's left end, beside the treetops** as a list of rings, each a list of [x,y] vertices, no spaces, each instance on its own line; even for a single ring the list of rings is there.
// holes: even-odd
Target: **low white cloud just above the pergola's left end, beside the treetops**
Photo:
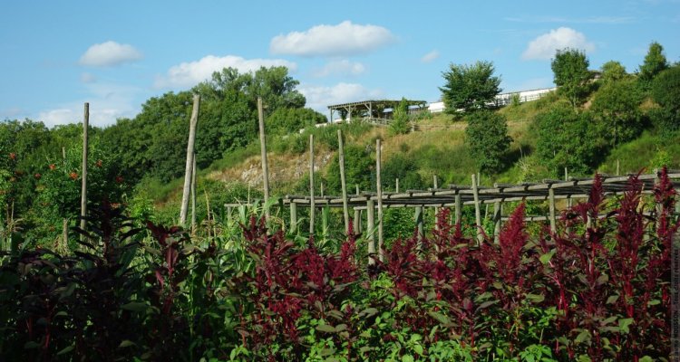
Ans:
[[[333,104],[383,98],[382,90],[369,90],[357,83],[337,83],[332,87],[301,85],[298,90],[305,95],[306,107],[323,114]]]

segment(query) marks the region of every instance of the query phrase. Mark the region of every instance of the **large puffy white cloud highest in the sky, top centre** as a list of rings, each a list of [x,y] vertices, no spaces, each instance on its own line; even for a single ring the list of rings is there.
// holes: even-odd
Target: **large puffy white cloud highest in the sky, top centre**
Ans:
[[[352,24],[345,20],[337,25],[316,25],[305,32],[275,36],[269,44],[274,54],[302,56],[346,56],[372,52],[396,37],[377,25]]]

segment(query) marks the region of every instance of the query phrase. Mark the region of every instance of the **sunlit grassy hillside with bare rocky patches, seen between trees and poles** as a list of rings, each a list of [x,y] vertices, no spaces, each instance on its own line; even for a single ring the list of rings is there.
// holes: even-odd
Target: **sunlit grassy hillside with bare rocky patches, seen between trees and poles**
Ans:
[[[513,138],[508,156],[508,163],[511,166],[492,179],[488,176],[482,176],[482,184],[539,181],[547,176],[541,172],[536,157],[531,156],[535,148],[531,124],[541,110],[546,109],[555,101],[557,101],[557,97],[549,96],[542,100],[499,110],[508,118],[510,137]],[[348,137],[346,143],[368,147],[374,145],[375,138],[380,137],[384,139],[384,162],[394,154],[407,154],[418,160],[419,165],[421,165],[419,173],[424,180],[428,181],[428,184],[432,182],[433,175],[440,178],[440,185],[469,184],[471,182],[470,176],[476,172],[476,167],[464,144],[465,127],[466,122],[464,120],[454,121],[450,115],[437,114],[433,115],[431,119],[421,120],[419,122],[420,130],[416,132],[391,136],[387,129],[374,128],[355,132]],[[318,133],[318,130],[315,132]],[[316,138],[319,139],[316,143],[317,165],[327,165],[328,160],[332,159],[335,154],[335,151],[331,150],[332,147],[324,144],[324,139],[328,142],[328,135],[335,132],[335,129],[327,129],[325,132],[327,132],[325,138]],[[292,137],[300,142],[298,138],[307,138],[308,136],[305,134]],[[293,142],[293,138],[289,138],[289,142]],[[287,142],[281,139],[276,141]],[[304,141],[306,142],[306,140]],[[661,150],[661,153],[659,150]],[[668,139],[662,140],[658,136],[646,132],[640,138],[613,149],[606,161],[598,167],[598,170],[614,174],[618,159],[622,173],[636,172],[643,167],[647,169],[653,167],[653,159],[658,157],[670,161],[670,167],[680,168],[680,144]],[[306,163],[301,162],[301,159],[308,158],[305,153],[300,153],[299,150],[294,153],[271,152],[269,157],[270,165],[274,161],[277,164],[276,169],[289,171],[295,169],[295,172],[291,171],[295,175],[305,172]],[[259,145],[257,142],[254,142],[248,148],[226,155],[209,167],[208,170],[199,172],[199,183],[201,179],[205,178],[227,182],[231,179],[238,182],[249,181],[253,188],[261,187],[261,176],[257,175],[248,180],[244,180],[240,176],[248,174],[248,170],[250,174],[253,171],[260,172],[259,167],[253,166],[255,164],[259,164]],[[302,177],[291,179],[295,178],[291,177],[291,172],[277,172],[270,176],[270,185],[276,188],[272,190],[274,194],[287,193],[300,182]],[[322,170],[322,172],[324,171]],[[347,180],[347,182],[350,185],[352,184],[352,180]],[[157,205],[161,207],[165,204],[176,205],[177,200],[181,197],[181,180],[176,180],[176,182],[164,186],[150,185],[149,188],[156,190],[151,194],[151,198],[156,200]]]

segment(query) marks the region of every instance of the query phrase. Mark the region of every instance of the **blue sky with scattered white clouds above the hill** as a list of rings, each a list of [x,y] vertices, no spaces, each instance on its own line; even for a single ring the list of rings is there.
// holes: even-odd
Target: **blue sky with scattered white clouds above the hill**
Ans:
[[[680,61],[680,0],[0,2],[0,120],[133,118],[213,71],[285,65],[306,105],[436,101],[451,64],[493,62],[503,91],[554,86],[557,49],[634,72],[652,42]]]

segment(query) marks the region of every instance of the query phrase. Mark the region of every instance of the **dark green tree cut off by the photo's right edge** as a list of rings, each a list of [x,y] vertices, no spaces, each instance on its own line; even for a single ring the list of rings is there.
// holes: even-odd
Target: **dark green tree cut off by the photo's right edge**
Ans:
[[[660,106],[652,112],[656,129],[680,130],[680,65],[659,73],[652,84],[652,98]]]

